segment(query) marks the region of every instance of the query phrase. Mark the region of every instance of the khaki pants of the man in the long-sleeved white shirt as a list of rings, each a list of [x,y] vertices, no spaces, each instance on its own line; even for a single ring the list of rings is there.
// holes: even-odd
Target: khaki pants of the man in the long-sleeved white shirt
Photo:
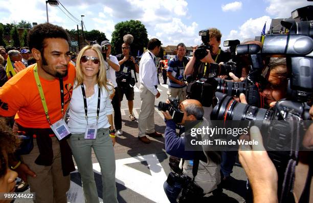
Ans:
[[[152,133],[154,129],[154,101],[155,96],[142,84],[139,87],[141,98],[140,114],[138,118],[138,137],[146,136],[146,133]]]

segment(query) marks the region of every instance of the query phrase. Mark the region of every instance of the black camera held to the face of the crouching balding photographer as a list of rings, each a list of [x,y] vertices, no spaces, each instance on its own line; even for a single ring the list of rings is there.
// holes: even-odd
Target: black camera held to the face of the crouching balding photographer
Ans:
[[[173,121],[180,124],[183,121],[184,113],[180,110],[180,100],[169,98],[170,103],[159,102],[158,109],[162,111],[169,111]]]

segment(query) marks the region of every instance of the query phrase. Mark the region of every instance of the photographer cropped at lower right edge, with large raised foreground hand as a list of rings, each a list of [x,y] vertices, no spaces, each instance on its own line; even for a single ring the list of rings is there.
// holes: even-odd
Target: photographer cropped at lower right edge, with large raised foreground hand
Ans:
[[[313,120],[313,106],[309,114]],[[244,137],[241,137],[244,139]],[[250,139],[262,143],[262,136],[257,127],[251,128]],[[307,149],[313,148],[313,124],[306,131],[302,141]],[[247,150],[250,149],[250,150]],[[243,150],[244,149],[244,150]],[[251,150],[252,149],[252,150]],[[311,202],[312,196],[312,151],[302,151],[299,154],[299,162],[295,169],[293,185],[294,202]],[[249,183],[253,191],[254,202],[278,202],[278,174],[266,150],[255,150],[251,146],[243,146],[239,149],[239,161],[247,173]],[[291,200],[290,200],[291,201]]]

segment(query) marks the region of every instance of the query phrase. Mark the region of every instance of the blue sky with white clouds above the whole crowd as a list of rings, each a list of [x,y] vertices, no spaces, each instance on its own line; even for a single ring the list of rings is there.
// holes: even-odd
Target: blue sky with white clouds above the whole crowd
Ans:
[[[306,0],[59,0],[78,20],[84,15],[85,28],[97,29],[111,39],[114,26],[130,19],[140,20],[148,37],[159,38],[164,46],[184,42],[200,43],[198,31],[215,27],[228,39],[254,39],[272,18],[290,17],[293,10],[312,4]],[[42,23],[47,21],[45,0],[0,0],[0,22]],[[60,7],[60,8],[59,8]],[[49,22],[76,29],[74,17],[48,5]],[[65,11],[64,11],[65,12]],[[65,12],[66,13],[66,12]]]

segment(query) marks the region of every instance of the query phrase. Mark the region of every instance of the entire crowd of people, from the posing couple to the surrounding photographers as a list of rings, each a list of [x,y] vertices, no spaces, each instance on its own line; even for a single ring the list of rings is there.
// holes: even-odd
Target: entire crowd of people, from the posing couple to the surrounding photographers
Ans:
[[[210,46],[203,59],[186,55],[184,43],[176,46],[176,55],[160,62],[163,84],[168,84],[168,98],[179,99],[182,113],[180,126],[186,121],[201,121],[209,125],[212,107],[203,107],[195,99],[187,98],[187,77],[193,80],[209,77],[210,64],[223,64],[230,55],[220,49],[221,33],[212,28]],[[249,41],[246,43],[257,43]],[[92,150],[101,168],[102,195],[104,202],[118,202],[115,182],[116,136],[123,134],[121,101],[127,99],[129,119],[138,120],[138,139],[149,144],[149,137],[163,137],[155,131],[154,103],[161,96],[156,58],[161,50],[161,41],[152,38],[140,63],[131,56],[130,44],[122,44],[122,53],[111,55],[108,40],[86,46],[78,54],[70,52],[68,34],[52,24],[35,26],[28,35],[29,47],[0,47],[0,192],[13,192],[18,176],[36,193],[35,202],[67,202],[70,188],[70,172],[75,170],[73,157],[82,179],[85,202],[99,202],[94,179]],[[261,44],[260,44],[261,45]],[[7,63],[18,74],[9,77]],[[248,70],[249,64],[242,68]],[[139,74],[141,99],[139,118],[133,114],[133,87]],[[286,98],[287,78],[290,72],[284,58],[271,58],[263,75],[266,87],[260,94],[267,107]],[[220,78],[242,81],[247,71],[240,76],[233,73]],[[247,103],[244,94],[237,100]],[[169,101],[167,101],[169,102]],[[313,118],[313,108],[310,109]],[[65,122],[65,115],[69,119]],[[176,133],[177,123],[168,111],[163,111],[166,122],[165,149],[171,155],[170,165],[177,174],[190,177],[202,194],[193,199],[204,202],[203,196],[212,193],[220,196],[222,184],[227,184],[236,162],[238,151],[186,151],[184,128]],[[312,126],[311,126],[312,127]],[[310,128],[311,128],[310,127]],[[303,145],[312,148],[308,131]],[[177,136],[179,134],[179,136]],[[251,138],[262,141],[258,128],[251,128]],[[295,184],[304,188],[303,178],[311,173],[309,159],[299,161]],[[247,173],[255,202],[278,202],[278,175],[266,151],[239,149],[239,161]],[[194,166],[197,171],[194,173]],[[301,174],[302,173],[302,174]],[[162,187],[162,186],[160,186]],[[185,185],[166,181],[164,191],[170,202],[176,202]],[[300,187],[300,188],[301,188]],[[295,190],[295,200],[302,190]],[[249,198],[247,198],[249,201]]]

